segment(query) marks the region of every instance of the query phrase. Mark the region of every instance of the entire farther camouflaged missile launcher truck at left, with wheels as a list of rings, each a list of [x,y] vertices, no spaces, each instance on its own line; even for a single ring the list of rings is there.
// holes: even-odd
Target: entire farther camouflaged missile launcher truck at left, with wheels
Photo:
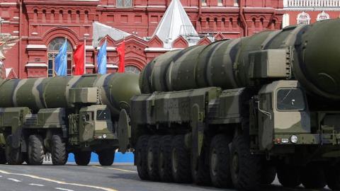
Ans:
[[[64,165],[74,153],[84,166],[94,151],[109,166],[118,148],[120,110],[129,110],[139,93],[136,74],[3,80],[0,162],[40,165],[48,152],[54,165]]]

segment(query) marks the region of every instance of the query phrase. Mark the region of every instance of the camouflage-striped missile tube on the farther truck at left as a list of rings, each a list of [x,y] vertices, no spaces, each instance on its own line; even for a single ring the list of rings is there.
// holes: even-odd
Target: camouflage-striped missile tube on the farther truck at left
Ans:
[[[98,87],[101,104],[108,105],[113,115],[127,107],[130,98],[138,95],[136,74],[86,74],[39,79],[12,79],[0,86],[0,108],[27,106],[33,111],[41,108],[72,108],[70,88]]]

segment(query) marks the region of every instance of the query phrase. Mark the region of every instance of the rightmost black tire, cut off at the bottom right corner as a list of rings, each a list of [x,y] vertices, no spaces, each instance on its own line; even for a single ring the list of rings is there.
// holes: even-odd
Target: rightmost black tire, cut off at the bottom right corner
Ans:
[[[329,166],[324,171],[327,185],[331,190],[340,190],[340,166]]]

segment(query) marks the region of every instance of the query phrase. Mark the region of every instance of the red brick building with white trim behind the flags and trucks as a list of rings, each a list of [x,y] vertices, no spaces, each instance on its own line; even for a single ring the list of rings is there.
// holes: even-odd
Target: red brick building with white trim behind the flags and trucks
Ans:
[[[115,47],[125,37],[126,68],[138,72],[157,55],[191,45],[179,34],[170,48],[165,47],[154,35],[170,4],[171,0],[0,0],[1,33],[20,39],[5,54],[4,63],[18,78],[53,76],[54,57],[67,37],[69,75],[74,47],[84,40],[86,72],[94,73],[96,54],[106,39],[108,72],[113,72],[118,63]],[[283,0],[181,0],[181,6],[200,38],[196,44],[279,29],[284,13]],[[106,35],[102,29],[108,29]]]

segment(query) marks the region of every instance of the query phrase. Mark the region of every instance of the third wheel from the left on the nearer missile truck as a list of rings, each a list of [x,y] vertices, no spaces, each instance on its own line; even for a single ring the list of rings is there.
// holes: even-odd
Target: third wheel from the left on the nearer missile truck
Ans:
[[[171,135],[166,135],[161,138],[159,142],[158,151],[158,170],[159,178],[162,182],[172,182],[171,174],[171,142],[173,137]]]

